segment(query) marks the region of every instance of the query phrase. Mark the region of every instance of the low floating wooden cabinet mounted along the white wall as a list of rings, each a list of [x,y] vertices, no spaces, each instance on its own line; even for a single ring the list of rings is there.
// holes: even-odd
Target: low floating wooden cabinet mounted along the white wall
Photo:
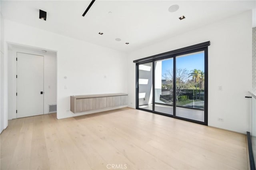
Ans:
[[[70,96],[70,111],[73,113],[96,113],[127,107],[126,93]]]

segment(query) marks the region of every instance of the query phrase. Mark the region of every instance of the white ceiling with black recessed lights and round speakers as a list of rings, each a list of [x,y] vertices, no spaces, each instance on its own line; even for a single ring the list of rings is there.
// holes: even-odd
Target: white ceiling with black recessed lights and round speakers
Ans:
[[[90,2],[1,0],[1,13],[4,18],[15,22],[130,52],[256,8],[254,0],[96,0],[86,16],[82,17]],[[173,4],[178,4],[180,8],[170,13],[168,8]],[[39,19],[39,9],[47,12],[46,21]],[[183,15],[186,18],[180,21],[178,17]],[[98,32],[104,34],[99,35]],[[122,41],[117,42],[116,38]]]

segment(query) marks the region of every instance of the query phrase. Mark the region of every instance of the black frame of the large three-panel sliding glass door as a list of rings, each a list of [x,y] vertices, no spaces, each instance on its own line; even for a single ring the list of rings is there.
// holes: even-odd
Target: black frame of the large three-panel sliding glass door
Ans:
[[[204,43],[199,43],[196,45],[191,45],[188,47],[168,51],[165,53],[160,53],[158,55],[152,55],[150,57],[145,57],[142,59],[134,60],[133,62],[136,63],[136,109],[142,110],[142,111],[147,111],[150,113],[156,113],[159,115],[164,115],[168,117],[173,117],[176,119],[181,119],[184,121],[189,121],[193,123],[198,123],[201,125],[208,125],[208,46],[210,45],[210,41],[204,42]],[[155,90],[154,90],[154,80],[155,80],[155,75],[154,75],[154,67],[155,67],[155,61],[163,60],[163,59],[170,59],[173,58],[173,69],[176,70],[176,57],[180,55],[186,55],[189,53],[195,53],[199,51],[204,51],[204,122],[201,121],[196,121],[193,119],[187,119],[184,117],[178,117],[176,116],[176,91],[173,92],[173,115],[166,114],[166,113],[160,113],[155,111]],[[148,109],[143,109],[139,107],[139,100],[138,100],[138,93],[139,93],[139,84],[138,84],[138,78],[139,78],[139,67],[138,65],[145,64],[145,63],[152,63],[152,110]],[[176,79],[176,71],[174,71],[174,79]],[[173,89],[176,89],[176,81],[174,81],[174,87]],[[179,106],[180,107],[180,106]],[[196,109],[196,108],[188,108],[188,109]],[[198,110],[198,109],[196,109]],[[199,109],[202,110],[202,109]]]

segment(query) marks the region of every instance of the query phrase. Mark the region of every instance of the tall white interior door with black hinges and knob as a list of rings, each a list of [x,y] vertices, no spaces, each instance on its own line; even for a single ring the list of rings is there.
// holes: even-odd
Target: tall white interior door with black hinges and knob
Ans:
[[[44,114],[44,56],[17,53],[17,118]]]

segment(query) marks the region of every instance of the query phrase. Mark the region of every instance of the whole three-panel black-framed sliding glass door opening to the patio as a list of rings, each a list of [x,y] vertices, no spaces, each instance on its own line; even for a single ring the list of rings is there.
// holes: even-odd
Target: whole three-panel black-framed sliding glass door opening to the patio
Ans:
[[[136,109],[207,125],[210,42],[200,45],[135,60]]]

